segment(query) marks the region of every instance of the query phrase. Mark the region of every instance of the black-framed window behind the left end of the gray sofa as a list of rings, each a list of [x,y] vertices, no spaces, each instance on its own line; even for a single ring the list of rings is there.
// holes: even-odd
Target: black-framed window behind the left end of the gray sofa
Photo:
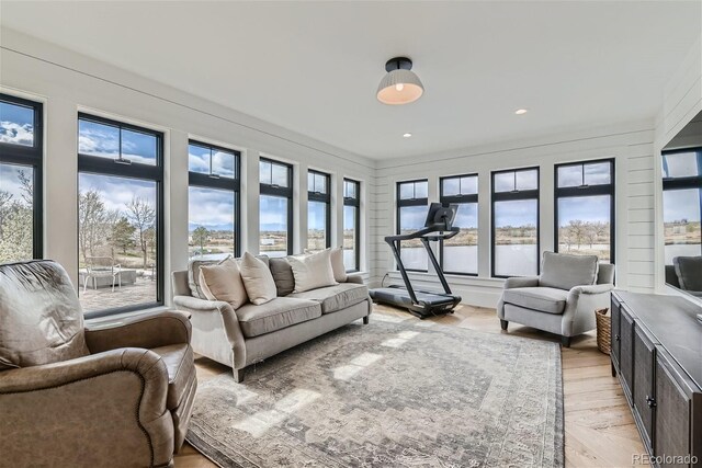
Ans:
[[[188,145],[190,256],[239,256],[241,153],[191,140]]]

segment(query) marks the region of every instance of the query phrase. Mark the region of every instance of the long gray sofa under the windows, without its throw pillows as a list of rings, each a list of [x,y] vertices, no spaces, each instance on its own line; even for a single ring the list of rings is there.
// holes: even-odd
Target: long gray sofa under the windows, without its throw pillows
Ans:
[[[360,275],[349,275],[336,286],[293,294],[287,259],[259,259],[271,269],[278,289],[275,299],[260,306],[249,303],[235,310],[228,303],[202,298],[196,263],[172,275],[173,304],[192,315],[195,353],[230,366],[236,381],[244,380],[245,368],[251,364],[354,320],[369,322],[372,303]]]

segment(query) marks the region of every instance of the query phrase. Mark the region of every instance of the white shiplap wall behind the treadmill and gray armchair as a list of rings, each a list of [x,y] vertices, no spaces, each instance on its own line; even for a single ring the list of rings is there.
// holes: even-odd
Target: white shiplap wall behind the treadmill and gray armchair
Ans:
[[[449,275],[452,288],[467,304],[495,307],[502,279],[490,275],[490,172],[520,167],[540,167],[541,250],[554,249],[554,164],[592,159],[615,159],[618,286],[631,290],[654,288],[654,122],[596,128],[568,135],[513,141],[427,155],[420,158],[382,161],[371,194],[371,256],[376,259],[371,279],[398,283],[389,247],[384,236],[396,226],[395,184],[411,179],[429,180],[429,201],[439,201],[439,178],[477,173],[478,181],[478,276]],[[419,286],[439,287],[432,273],[411,273]]]

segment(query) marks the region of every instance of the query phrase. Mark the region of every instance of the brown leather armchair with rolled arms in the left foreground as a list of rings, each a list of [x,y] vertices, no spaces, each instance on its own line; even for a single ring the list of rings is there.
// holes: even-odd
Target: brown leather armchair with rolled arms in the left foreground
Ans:
[[[176,311],[86,328],[60,265],[0,265],[0,466],[172,466],[196,388],[190,335]]]

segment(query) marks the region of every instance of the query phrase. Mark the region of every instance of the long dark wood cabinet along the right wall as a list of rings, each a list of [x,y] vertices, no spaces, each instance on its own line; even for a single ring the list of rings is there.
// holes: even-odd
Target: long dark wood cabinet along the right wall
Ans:
[[[654,467],[702,468],[700,312],[679,297],[612,294],[612,375]]]

